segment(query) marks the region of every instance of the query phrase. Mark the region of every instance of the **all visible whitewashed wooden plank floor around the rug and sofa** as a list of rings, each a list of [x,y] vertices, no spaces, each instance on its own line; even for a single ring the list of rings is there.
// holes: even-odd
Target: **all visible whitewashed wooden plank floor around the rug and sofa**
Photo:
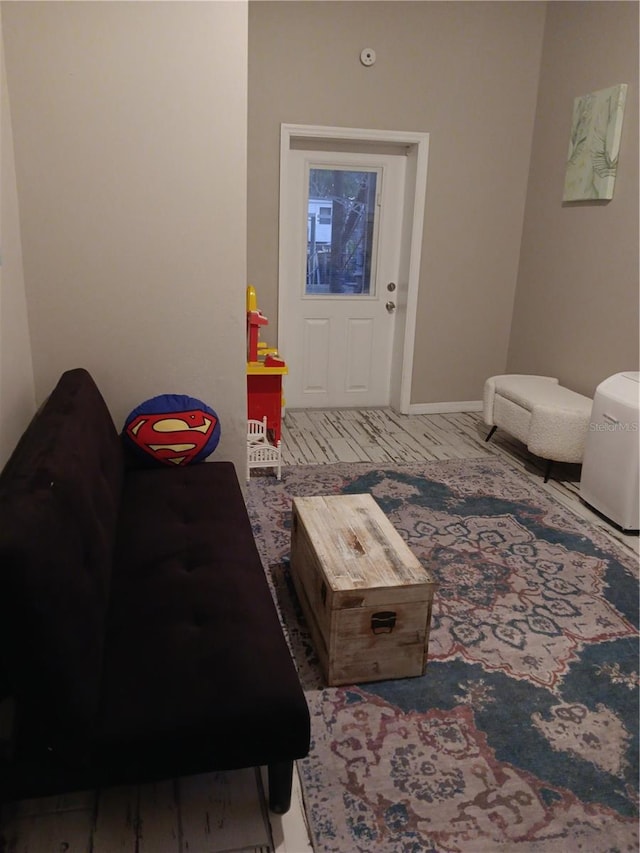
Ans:
[[[477,413],[398,415],[391,409],[289,410],[283,465],[412,463],[496,456],[634,555],[624,534],[580,500],[580,468],[544,462],[498,430],[489,443]],[[158,785],[80,792],[6,808],[0,853],[310,853],[297,777],[291,810],[268,815],[263,775],[206,774]],[[259,828],[261,838],[251,837]],[[253,843],[252,843],[253,842]]]

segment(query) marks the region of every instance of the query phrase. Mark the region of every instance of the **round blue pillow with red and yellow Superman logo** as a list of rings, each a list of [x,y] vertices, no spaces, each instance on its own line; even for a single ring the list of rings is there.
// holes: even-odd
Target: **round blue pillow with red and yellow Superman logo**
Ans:
[[[202,400],[161,394],[137,406],[125,421],[125,442],[148,461],[190,465],[213,453],[220,420]]]

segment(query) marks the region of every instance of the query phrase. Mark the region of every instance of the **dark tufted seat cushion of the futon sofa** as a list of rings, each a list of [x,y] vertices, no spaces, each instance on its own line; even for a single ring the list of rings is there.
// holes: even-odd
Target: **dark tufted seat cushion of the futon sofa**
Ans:
[[[233,465],[129,472],[119,534],[104,759],[144,778],[305,754],[307,705]]]

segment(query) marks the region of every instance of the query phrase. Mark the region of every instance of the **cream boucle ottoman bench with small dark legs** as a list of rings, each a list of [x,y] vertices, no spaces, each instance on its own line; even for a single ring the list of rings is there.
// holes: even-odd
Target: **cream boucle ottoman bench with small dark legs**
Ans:
[[[501,427],[522,441],[548,461],[546,483],[553,462],[582,462],[592,403],[553,376],[492,376],[484,385],[486,440]]]

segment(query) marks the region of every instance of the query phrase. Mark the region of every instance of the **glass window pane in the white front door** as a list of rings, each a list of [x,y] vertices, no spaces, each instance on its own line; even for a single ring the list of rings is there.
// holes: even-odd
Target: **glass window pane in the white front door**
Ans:
[[[371,295],[378,171],[309,169],[305,295]]]

